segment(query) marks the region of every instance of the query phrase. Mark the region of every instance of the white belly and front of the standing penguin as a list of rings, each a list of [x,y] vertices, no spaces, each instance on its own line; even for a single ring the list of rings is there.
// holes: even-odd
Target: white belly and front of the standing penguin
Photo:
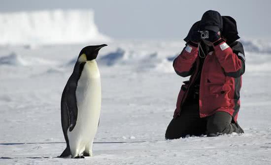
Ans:
[[[92,156],[92,144],[96,135],[101,111],[101,79],[95,60],[87,61],[77,83],[77,121],[69,132],[68,140],[71,156],[82,152]]]

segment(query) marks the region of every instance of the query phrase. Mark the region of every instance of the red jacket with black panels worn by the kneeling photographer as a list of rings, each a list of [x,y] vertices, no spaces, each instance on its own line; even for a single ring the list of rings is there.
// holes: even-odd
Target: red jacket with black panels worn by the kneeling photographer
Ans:
[[[214,52],[206,55],[200,82],[200,117],[217,111],[231,114],[237,121],[240,108],[239,92],[241,75],[245,70],[245,57],[242,44],[238,41],[228,46],[220,39],[214,43]],[[174,117],[180,115],[183,103],[196,79],[200,59],[197,44],[188,42],[180,55],[173,61],[175,72],[181,77],[190,76],[189,82],[181,86]]]

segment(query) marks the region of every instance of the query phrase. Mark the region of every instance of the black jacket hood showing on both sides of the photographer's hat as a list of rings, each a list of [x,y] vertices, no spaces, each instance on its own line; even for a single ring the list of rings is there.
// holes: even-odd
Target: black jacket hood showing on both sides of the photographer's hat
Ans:
[[[237,31],[237,24],[234,18],[230,16],[222,16],[223,20],[223,27],[222,27],[222,37],[225,38],[227,41],[226,43],[228,45],[231,45],[234,43],[237,39],[240,37],[238,36],[238,31]],[[185,42],[188,42],[191,40],[192,34],[195,31],[200,30],[202,26],[201,21],[196,22],[193,24],[193,26],[190,28],[187,36],[183,39]]]

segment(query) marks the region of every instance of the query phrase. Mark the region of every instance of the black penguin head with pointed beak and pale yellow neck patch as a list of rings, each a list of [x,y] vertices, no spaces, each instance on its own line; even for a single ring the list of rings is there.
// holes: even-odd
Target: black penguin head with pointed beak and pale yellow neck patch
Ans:
[[[92,45],[92,46],[86,46],[83,48],[78,56],[77,61],[78,62],[86,62],[86,61],[91,61],[93,59],[97,58],[97,55],[99,53],[99,50],[102,47],[107,46],[106,44],[102,45]]]

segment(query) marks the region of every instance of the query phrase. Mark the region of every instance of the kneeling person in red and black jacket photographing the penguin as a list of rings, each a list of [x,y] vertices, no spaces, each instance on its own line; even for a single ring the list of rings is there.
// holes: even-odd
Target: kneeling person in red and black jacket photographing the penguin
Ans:
[[[237,124],[245,57],[236,21],[209,10],[184,39],[186,47],[173,61],[181,86],[167,139],[244,133]]]

